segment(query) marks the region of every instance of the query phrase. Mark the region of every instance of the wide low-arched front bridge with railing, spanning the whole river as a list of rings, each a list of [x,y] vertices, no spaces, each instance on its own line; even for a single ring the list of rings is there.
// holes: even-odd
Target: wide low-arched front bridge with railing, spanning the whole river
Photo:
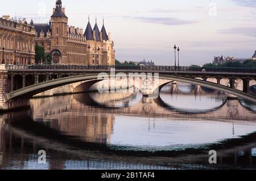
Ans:
[[[122,75],[134,73],[133,83],[130,82],[131,85],[137,87],[144,95],[153,98],[159,95],[159,90],[164,85],[177,81],[225,91],[228,94],[256,102],[256,96],[250,94],[250,86],[255,85],[256,71],[254,70],[216,69],[216,71],[200,71],[188,67],[176,69],[171,66],[0,66],[0,108],[2,110],[23,106],[22,104],[27,104],[27,100],[35,94],[71,83],[80,82],[75,87],[74,92],[86,91],[106,77],[115,78],[121,73]],[[113,69],[115,70],[114,73]],[[102,74],[105,77],[99,77],[99,73],[105,73]],[[120,78],[121,82],[125,81],[122,80],[122,76]],[[224,79],[228,79],[226,85],[222,83]],[[242,89],[237,89],[237,80],[242,81]]]

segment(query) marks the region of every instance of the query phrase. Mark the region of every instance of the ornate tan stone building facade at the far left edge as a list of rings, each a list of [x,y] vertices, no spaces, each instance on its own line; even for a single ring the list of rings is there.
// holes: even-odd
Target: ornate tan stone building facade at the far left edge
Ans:
[[[26,20],[10,20],[9,16],[0,18],[0,63],[34,64],[35,28]]]

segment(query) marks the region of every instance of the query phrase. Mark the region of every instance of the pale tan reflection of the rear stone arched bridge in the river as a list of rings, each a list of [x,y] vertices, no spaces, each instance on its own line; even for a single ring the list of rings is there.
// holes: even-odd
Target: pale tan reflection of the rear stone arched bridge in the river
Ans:
[[[164,94],[164,93],[163,93]],[[202,93],[201,93],[202,94]],[[209,93],[208,93],[209,94]],[[214,92],[213,92],[214,94]],[[168,105],[160,97],[149,99],[142,97],[136,102],[134,94],[125,93],[119,95],[123,98],[115,98],[116,94],[74,94],[60,97],[32,99],[31,104],[34,107],[34,119],[56,119],[61,116],[81,115],[88,113],[98,114],[118,114],[118,115],[136,115],[142,117],[172,117],[187,119],[226,119],[226,120],[255,120],[255,112],[242,106],[237,99],[227,99],[218,107],[210,110],[179,110],[175,106]],[[96,95],[96,94],[94,94]],[[113,100],[111,98],[113,96]],[[129,98],[130,96],[130,98]],[[52,101],[54,99],[54,102]],[[99,102],[97,102],[99,100]],[[104,102],[104,100],[106,100]],[[117,107],[114,103],[120,102]],[[132,102],[131,105],[129,102]],[[123,104],[122,104],[123,103]],[[122,104],[122,106],[120,106]]]

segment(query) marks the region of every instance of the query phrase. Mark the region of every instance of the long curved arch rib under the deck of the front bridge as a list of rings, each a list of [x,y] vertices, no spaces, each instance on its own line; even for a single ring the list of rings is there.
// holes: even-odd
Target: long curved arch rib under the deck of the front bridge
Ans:
[[[110,74],[109,74],[110,76]],[[137,77],[137,75],[134,75]],[[138,77],[141,77],[140,75]],[[10,93],[5,93],[5,100],[8,102],[10,99],[15,99],[15,98],[22,98],[24,96],[30,97],[35,94],[38,94],[40,92],[46,91],[53,89],[55,87],[60,87],[64,85],[68,85],[70,83],[76,83],[76,82],[82,82],[82,81],[88,81],[88,80],[93,80],[93,79],[98,79],[98,74],[85,74],[85,75],[76,75],[76,76],[71,76],[71,77],[65,77],[65,78],[60,78],[60,79],[53,79],[52,81],[47,81],[43,83],[38,83],[36,85],[24,87],[23,89],[16,90]],[[173,75],[162,75],[159,74],[159,79],[166,79],[168,81],[177,81],[177,82],[184,82],[184,83],[191,83],[195,85],[200,85],[204,87],[208,87],[210,89],[215,89],[215,90],[220,90],[227,92],[228,94],[233,94],[238,97],[244,98],[251,100],[252,102],[256,103],[256,96],[247,94],[245,92],[242,92],[240,90],[236,89],[231,89],[230,87],[218,85],[216,83],[212,82],[205,82],[201,81],[199,79],[192,79],[192,78],[184,78],[184,77],[177,77]]]

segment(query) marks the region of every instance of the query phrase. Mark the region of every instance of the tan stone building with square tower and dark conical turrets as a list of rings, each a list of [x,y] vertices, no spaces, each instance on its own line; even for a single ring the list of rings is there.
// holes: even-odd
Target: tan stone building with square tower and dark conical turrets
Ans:
[[[97,19],[92,29],[90,19],[86,30],[68,25],[68,17],[61,0],[56,1],[49,23],[36,24],[35,44],[44,47],[52,55],[52,64],[114,65],[114,42],[105,29],[98,28]]]

